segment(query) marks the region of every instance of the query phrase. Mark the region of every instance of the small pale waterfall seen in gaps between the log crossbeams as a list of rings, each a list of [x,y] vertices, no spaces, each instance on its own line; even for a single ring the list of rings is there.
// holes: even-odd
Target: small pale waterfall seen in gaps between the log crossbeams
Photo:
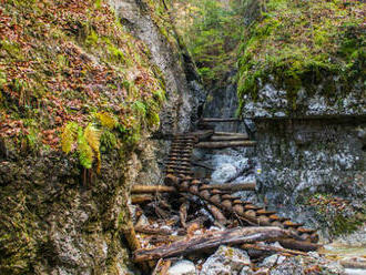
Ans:
[[[231,74],[233,74],[232,72]],[[212,89],[204,104],[203,118],[234,118],[237,110],[236,84]],[[252,135],[252,126],[244,122],[222,122],[215,124],[215,132],[234,132]],[[195,150],[194,161],[203,163],[212,171],[196,167],[202,176],[212,183],[250,183],[256,181],[257,160],[253,147],[227,147],[221,150]],[[240,192],[246,201],[257,203],[254,192]]]

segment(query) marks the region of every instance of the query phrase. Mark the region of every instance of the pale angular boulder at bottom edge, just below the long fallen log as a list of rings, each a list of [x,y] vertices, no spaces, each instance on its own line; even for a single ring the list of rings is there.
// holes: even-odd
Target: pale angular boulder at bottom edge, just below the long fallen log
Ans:
[[[250,264],[246,252],[222,245],[203,264],[200,275],[236,275]]]

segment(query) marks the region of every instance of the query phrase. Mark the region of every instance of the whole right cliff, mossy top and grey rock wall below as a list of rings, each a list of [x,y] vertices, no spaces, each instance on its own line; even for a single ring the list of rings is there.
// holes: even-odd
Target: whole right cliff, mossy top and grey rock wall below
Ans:
[[[246,2],[256,12],[245,17],[238,99],[243,118],[256,123],[261,192],[326,236],[346,232],[365,211],[363,3]],[[349,207],[319,206],[336,197]]]

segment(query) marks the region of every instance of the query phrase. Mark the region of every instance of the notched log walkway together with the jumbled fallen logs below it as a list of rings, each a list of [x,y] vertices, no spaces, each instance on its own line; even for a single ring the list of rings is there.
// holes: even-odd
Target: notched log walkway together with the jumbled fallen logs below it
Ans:
[[[203,121],[203,123],[210,122]],[[177,212],[180,225],[183,228],[179,232],[183,235],[185,234],[185,237],[183,240],[177,238],[175,242],[172,242],[172,238],[170,238],[170,243],[162,242],[160,243],[161,245],[154,248],[139,248],[134,252],[135,262],[149,262],[177,255],[195,254],[200,251],[217,247],[221,244],[242,245],[244,249],[256,249],[260,252],[278,252],[279,249],[287,255],[302,255],[304,252],[316,251],[319,247],[317,244],[318,235],[315,230],[305,228],[303,224],[293,223],[289,218],[278,216],[275,211],[256,206],[251,202],[243,202],[240,197],[233,195],[237,191],[255,191],[255,183],[210,184],[210,180],[194,177],[191,170],[191,156],[194,147],[232,146],[234,143],[240,143],[243,146],[255,145],[255,142],[247,139],[246,134],[214,133],[212,129],[174,136],[171,152],[165,163],[165,185],[134,186],[132,189],[132,201],[139,204],[148,203],[148,205],[151,205],[156,202],[153,198],[153,194],[166,194],[173,201],[169,203],[161,200],[159,203],[169,211],[172,211],[171,205],[181,202]],[[184,198],[180,201],[179,196]],[[207,214],[203,217],[193,218],[186,223],[187,210],[192,203],[199,205],[199,207],[206,208],[211,215]],[[167,215],[156,204],[154,205],[154,207],[157,207],[155,212],[160,216]],[[225,230],[214,233],[206,232],[206,234],[194,237],[190,236],[192,228],[195,228],[195,226],[202,227],[205,221],[210,220],[207,216],[211,216],[211,221],[213,220]],[[237,227],[237,225],[246,227]],[[155,241],[164,240],[164,237],[157,237],[159,235],[171,235],[172,233],[171,231],[169,233],[163,232],[159,227],[149,228],[141,226],[136,228],[136,232],[155,234]],[[260,241],[278,241],[285,248],[254,244]]]

